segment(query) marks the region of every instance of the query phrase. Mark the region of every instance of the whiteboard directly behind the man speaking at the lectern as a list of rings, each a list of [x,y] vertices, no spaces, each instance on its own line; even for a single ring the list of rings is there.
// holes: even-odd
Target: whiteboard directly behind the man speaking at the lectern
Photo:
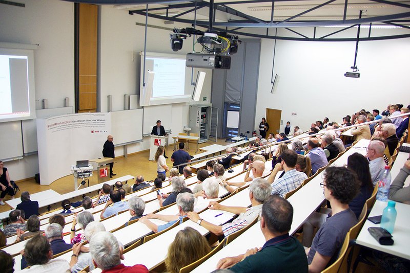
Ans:
[[[171,129],[172,121],[172,104],[144,106],[144,135],[151,134],[152,127],[156,125],[157,120],[165,130]]]

